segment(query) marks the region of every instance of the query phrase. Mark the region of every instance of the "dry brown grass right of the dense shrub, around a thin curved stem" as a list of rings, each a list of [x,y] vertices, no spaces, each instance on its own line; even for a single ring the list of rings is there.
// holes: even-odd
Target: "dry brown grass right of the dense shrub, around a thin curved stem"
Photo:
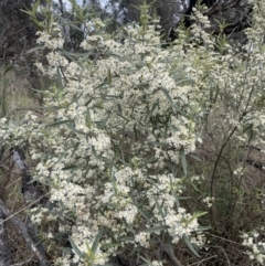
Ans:
[[[255,265],[243,254],[245,248],[240,235],[261,228],[265,222],[265,155],[261,151],[263,147],[240,146],[234,136],[227,140],[234,126],[227,124],[226,111],[219,106],[208,117],[203,142],[197,150],[202,161],[190,162],[194,173],[203,173],[205,177],[200,193],[192,192],[191,198],[198,199],[193,203],[194,209],[200,210],[202,194],[213,194],[215,203],[209,210],[208,217],[202,220],[204,225],[212,226],[206,232],[211,241],[209,249],[203,252],[201,262],[187,265]],[[224,143],[225,148],[221,152]],[[213,175],[219,156],[220,161]],[[242,174],[234,173],[239,167],[243,169]],[[265,241],[264,235],[259,236],[259,241]]]

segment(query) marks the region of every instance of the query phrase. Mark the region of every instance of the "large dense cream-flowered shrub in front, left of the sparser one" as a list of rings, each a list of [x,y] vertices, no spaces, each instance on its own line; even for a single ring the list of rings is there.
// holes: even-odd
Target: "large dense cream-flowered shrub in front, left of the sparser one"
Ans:
[[[160,47],[147,11],[141,26],[124,29],[121,42],[104,33],[100,20],[86,24],[85,60],[67,58],[60,25],[50,23],[38,40],[50,51],[47,65],[36,66],[56,82],[45,92],[42,124],[32,113],[24,127],[1,124],[6,142],[26,138],[40,160],[35,179],[50,185],[51,205],[42,208],[45,215],[32,210],[32,221],[59,221],[50,238],[71,236],[75,255],[60,258],[63,265],[104,265],[128,246],[153,248],[156,237],[178,243],[200,231],[200,214],[180,208],[177,177],[180,155],[184,163],[200,140],[198,88],[178,64],[183,50]]]

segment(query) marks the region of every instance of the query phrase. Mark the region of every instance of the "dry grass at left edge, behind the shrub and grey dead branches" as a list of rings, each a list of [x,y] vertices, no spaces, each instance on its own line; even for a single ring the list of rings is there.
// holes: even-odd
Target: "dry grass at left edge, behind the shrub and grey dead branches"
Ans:
[[[8,70],[4,65],[0,66],[0,95],[6,104],[4,111],[0,106],[0,117],[4,115],[13,120],[20,120],[29,109],[39,107],[38,100],[31,96],[31,84],[26,77],[23,74],[19,75],[13,70]],[[3,153],[2,161],[3,163],[0,164],[0,198],[15,216],[26,223],[28,215],[24,212],[26,203],[21,193],[22,174],[13,164],[9,150]],[[34,254],[25,244],[21,232],[10,220],[6,222],[6,230],[12,263],[23,262],[22,265],[38,265],[34,264]]]

